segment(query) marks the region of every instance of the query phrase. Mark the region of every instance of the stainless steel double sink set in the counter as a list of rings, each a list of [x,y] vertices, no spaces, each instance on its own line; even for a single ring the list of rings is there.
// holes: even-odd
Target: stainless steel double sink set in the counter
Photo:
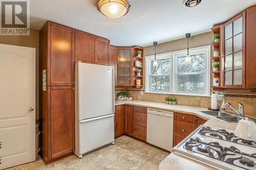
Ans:
[[[204,114],[209,116],[214,116],[220,120],[224,120],[225,122],[239,122],[239,120],[244,119],[244,116],[239,116],[237,114],[222,112],[222,111],[201,111]],[[250,118],[252,121],[256,122],[256,119]]]

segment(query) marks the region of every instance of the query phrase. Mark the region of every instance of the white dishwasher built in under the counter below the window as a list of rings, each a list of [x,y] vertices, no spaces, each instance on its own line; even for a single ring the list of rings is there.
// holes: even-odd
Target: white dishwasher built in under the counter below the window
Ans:
[[[159,148],[173,148],[174,112],[147,108],[146,141]]]

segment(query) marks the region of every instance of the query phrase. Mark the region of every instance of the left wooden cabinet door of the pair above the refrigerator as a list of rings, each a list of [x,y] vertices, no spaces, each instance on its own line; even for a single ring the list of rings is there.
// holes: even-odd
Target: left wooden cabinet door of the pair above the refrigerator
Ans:
[[[76,37],[76,60],[85,62],[85,63],[93,63],[94,36],[92,34],[76,30],[75,37]]]

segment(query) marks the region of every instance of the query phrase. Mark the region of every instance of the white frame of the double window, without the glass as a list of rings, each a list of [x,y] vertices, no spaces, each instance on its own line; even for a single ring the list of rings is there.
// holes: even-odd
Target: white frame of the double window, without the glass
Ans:
[[[205,73],[204,73],[204,84],[205,89],[204,92],[182,92],[177,91],[177,58],[180,56],[184,56],[187,53],[187,50],[180,50],[175,52],[169,52],[169,53],[163,53],[158,54],[157,59],[166,59],[170,57],[170,61],[172,62],[172,69],[170,71],[170,88],[169,91],[159,91],[159,90],[151,90],[151,65],[150,61],[154,59],[154,55],[146,56],[145,57],[145,92],[146,93],[162,93],[162,94],[181,94],[181,95],[199,95],[199,96],[210,96],[210,54],[211,54],[211,46],[201,46],[196,48],[190,48],[189,53],[195,54],[195,53],[205,53]],[[193,72],[193,73],[186,73],[182,75],[194,75],[199,74],[201,72]]]

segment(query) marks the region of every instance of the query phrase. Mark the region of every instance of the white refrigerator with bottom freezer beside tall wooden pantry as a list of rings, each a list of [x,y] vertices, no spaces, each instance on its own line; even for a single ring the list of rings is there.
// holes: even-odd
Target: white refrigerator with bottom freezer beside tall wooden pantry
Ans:
[[[114,68],[75,63],[75,155],[114,144]]]

